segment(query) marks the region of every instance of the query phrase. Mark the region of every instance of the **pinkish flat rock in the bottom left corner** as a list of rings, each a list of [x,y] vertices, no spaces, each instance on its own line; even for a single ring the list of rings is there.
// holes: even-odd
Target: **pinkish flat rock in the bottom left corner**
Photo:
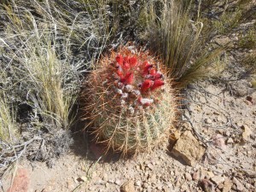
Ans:
[[[26,169],[19,168],[16,172],[12,186],[7,192],[27,192],[29,189],[30,178]]]

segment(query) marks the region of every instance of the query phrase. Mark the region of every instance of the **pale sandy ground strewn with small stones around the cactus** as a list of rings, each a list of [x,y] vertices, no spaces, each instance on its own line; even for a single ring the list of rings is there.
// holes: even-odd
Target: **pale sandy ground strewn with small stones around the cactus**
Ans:
[[[177,130],[152,153],[101,158],[101,146],[76,134],[51,167],[17,162],[2,191],[256,191],[256,92],[237,65],[241,54],[231,52],[220,77],[189,85]]]

